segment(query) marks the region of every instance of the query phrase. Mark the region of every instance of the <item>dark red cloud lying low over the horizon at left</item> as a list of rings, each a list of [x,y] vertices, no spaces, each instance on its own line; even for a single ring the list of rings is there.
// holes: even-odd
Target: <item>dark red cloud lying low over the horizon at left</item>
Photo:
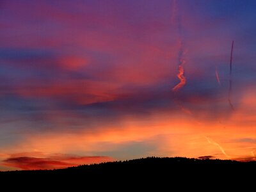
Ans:
[[[26,154],[26,153],[25,153]],[[17,154],[20,155],[20,154]],[[13,155],[8,159],[3,160],[4,166],[20,168],[21,170],[40,170],[67,168],[77,166],[79,164],[92,164],[113,161],[113,158],[106,156],[67,156],[57,154],[47,157],[28,157]]]

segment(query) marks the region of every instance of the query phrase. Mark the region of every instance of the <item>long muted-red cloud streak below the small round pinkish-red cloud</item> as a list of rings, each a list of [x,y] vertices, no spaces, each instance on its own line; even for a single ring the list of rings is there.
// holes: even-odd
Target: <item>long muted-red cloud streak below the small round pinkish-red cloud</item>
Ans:
[[[106,102],[114,100],[111,90],[118,88],[118,83],[105,83],[102,81],[70,80],[52,83],[45,86],[41,81],[33,81],[31,86],[20,86],[16,92],[27,98],[35,97],[63,97],[79,104]]]

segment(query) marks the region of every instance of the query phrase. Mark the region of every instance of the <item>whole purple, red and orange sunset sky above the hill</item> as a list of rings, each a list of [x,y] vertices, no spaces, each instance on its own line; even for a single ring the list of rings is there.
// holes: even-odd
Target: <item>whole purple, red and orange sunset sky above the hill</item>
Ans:
[[[0,170],[255,160],[255,10],[253,0],[1,0]]]

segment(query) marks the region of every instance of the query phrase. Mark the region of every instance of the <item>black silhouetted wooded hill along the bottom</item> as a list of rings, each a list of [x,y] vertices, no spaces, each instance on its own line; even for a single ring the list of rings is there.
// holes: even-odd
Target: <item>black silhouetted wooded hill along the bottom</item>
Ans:
[[[198,186],[225,185],[230,188],[243,184],[244,189],[256,180],[256,162],[188,159],[184,157],[148,157],[131,161],[81,165],[61,170],[0,172],[4,180],[25,180],[29,183],[59,183],[98,187],[131,186]],[[254,187],[253,187],[254,188]],[[207,190],[207,189],[206,189]],[[121,190],[123,191],[123,190]],[[169,191],[169,190],[168,190]],[[200,191],[200,190],[199,190]],[[221,191],[221,190],[220,190]]]

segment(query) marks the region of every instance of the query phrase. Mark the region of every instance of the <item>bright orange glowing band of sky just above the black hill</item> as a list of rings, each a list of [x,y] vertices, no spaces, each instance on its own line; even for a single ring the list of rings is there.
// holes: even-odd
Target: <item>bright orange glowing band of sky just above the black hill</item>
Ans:
[[[245,102],[248,101],[247,98],[243,100]],[[241,115],[240,111],[234,111],[229,120],[224,120],[220,124],[211,121],[199,121],[191,115],[182,113],[170,118],[166,113],[152,116],[149,122],[137,118],[125,118],[122,120],[125,122],[122,129],[110,126],[95,129],[94,131],[88,130],[74,133],[48,132],[45,134],[28,134],[26,140],[19,143],[19,149],[15,147],[1,149],[5,154],[3,157],[11,159],[3,165],[12,165],[12,157],[20,156],[49,159],[49,156],[54,154],[65,154],[67,152],[68,154],[74,154],[76,151],[83,152],[82,156],[97,156],[97,154],[104,151],[115,150],[116,147],[129,143],[151,143],[151,145],[155,146],[154,149],[140,157],[200,157],[209,155],[219,159],[246,161],[246,159],[255,158],[253,154],[256,150],[256,145],[253,145],[250,141],[246,142],[246,140],[239,143],[239,140],[251,138],[255,134],[255,127],[245,126],[246,132],[244,132],[244,129],[240,129],[239,121],[243,119]],[[29,153],[19,154],[20,150]],[[113,152],[109,154],[113,155]],[[136,156],[131,154],[132,157]],[[118,154],[115,154],[115,157],[107,157],[103,160],[108,161],[109,158],[125,160],[125,157],[118,156]],[[26,162],[37,162],[38,159],[27,160]],[[44,159],[44,161],[46,160]],[[50,159],[49,162],[47,161],[49,163],[47,167],[63,167],[72,164],[70,160],[65,160],[61,161],[63,164],[60,163],[60,165],[54,166],[54,163],[57,164],[55,161],[57,160]],[[83,163],[83,161],[79,162]],[[19,168],[28,167],[25,165],[19,166]]]

